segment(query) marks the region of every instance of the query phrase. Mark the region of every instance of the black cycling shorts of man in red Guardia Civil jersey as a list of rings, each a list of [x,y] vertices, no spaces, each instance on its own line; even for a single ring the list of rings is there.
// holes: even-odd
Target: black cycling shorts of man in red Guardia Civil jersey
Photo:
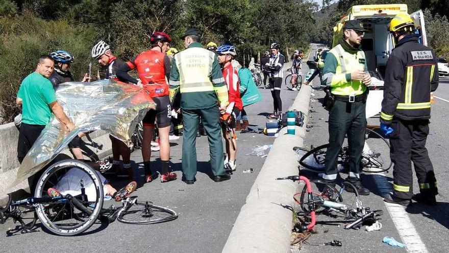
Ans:
[[[171,125],[171,105],[169,96],[154,97],[156,109],[149,110],[143,118],[143,126],[155,126],[157,122],[159,128]]]

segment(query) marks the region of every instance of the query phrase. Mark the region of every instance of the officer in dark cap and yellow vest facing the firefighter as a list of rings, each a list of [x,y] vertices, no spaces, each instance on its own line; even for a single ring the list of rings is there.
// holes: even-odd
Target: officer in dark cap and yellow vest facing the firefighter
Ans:
[[[330,86],[335,102],[329,110],[329,147],[322,178],[335,183],[338,174],[337,156],[347,134],[350,152],[347,180],[356,186],[361,195],[369,194],[360,180],[360,160],[365,143],[366,85],[371,83],[371,77],[365,72],[365,54],[359,49],[365,31],[360,21],[346,21],[343,37],[329,51],[323,68],[323,85]]]

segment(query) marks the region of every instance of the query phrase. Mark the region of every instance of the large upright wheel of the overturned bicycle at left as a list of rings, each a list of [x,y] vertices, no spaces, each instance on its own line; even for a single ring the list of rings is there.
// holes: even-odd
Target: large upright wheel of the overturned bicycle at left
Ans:
[[[93,225],[103,206],[103,185],[95,170],[79,160],[62,160],[44,171],[35,197],[47,197],[49,188],[58,190],[61,197],[36,205],[36,214],[46,231],[74,236]]]

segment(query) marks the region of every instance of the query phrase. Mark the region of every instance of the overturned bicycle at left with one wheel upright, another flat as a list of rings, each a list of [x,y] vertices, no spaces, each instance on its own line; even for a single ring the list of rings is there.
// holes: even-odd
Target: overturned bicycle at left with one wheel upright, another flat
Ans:
[[[154,205],[138,202],[137,197],[122,200],[119,208],[103,209],[103,182],[89,165],[80,160],[62,160],[48,167],[40,176],[33,197],[13,201],[0,208],[0,224],[12,218],[21,233],[32,232],[37,219],[42,228],[60,236],[79,235],[89,229],[98,218],[126,223],[150,224],[173,220],[176,212]],[[50,188],[58,189],[59,196],[49,197]],[[112,212],[113,211],[113,212]]]

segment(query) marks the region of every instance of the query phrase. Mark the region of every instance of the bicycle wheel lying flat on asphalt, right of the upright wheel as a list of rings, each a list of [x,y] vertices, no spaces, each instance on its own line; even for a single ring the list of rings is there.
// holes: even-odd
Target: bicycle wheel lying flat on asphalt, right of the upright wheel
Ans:
[[[150,201],[139,202],[137,197],[128,198],[123,208],[118,211],[117,219],[131,224],[153,224],[178,218],[178,214]]]

